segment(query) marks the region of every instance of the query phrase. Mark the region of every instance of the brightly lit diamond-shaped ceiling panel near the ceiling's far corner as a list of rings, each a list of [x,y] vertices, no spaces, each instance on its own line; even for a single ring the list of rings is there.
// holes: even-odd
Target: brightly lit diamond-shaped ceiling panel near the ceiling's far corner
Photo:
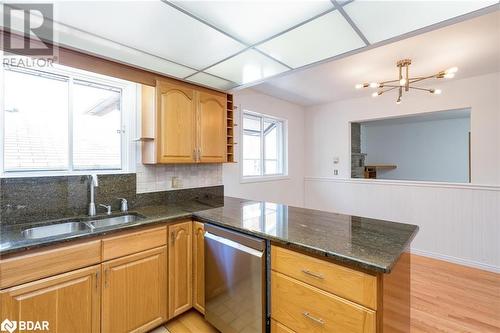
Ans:
[[[223,77],[238,84],[246,84],[287,71],[282,64],[255,50],[247,50],[210,67],[205,72]]]

